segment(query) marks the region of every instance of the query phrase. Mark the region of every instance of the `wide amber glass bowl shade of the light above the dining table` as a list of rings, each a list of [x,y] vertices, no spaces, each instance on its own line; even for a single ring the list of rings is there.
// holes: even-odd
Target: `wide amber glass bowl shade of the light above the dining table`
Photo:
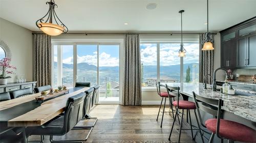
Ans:
[[[39,23],[40,30],[47,35],[57,36],[63,33],[64,27],[53,23]]]

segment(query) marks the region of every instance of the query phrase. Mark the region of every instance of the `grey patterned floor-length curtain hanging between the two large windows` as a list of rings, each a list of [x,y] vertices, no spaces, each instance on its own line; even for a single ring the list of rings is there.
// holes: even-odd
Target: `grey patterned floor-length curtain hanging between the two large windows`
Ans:
[[[141,105],[141,65],[138,34],[124,38],[122,105]]]

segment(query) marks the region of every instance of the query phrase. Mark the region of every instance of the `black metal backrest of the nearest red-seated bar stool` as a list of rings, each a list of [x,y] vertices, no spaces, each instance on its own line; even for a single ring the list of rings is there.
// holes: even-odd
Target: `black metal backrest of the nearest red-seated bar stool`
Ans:
[[[222,118],[221,107],[223,106],[223,100],[222,99],[210,99],[210,98],[202,97],[202,96],[197,95],[195,92],[193,92],[193,97],[194,97],[194,101],[196,103],[196,107],[197,107],[197,111],[198,111],[198,115],[199,115],[201,125],[203,127],[205,127],[205,125],[203,124],[203,121],[202,121],[202,118],[201,118],[201,113],[200,113],[199,109],[210,113],[214,117],[217,117],[216,134],[217,134],[218,137],[220,137],[219,136],[219,129],[220,129],[220,119]],[[216,105],[218,107],[216,107],[214,105]]]

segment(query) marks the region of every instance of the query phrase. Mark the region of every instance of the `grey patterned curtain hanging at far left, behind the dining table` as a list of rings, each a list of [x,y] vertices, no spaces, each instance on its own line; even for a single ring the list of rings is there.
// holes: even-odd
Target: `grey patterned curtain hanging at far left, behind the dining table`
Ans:
[[[51,85],[52,83],[52,58],[51,36],[34,34],[33,47],[33,80],[37,87]]]

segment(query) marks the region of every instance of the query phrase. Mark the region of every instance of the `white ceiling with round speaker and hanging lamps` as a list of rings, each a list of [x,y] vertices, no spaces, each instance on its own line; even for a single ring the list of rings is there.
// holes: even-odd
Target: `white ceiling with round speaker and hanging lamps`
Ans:
[[[0,17],[38,31],[35,21],[48,10],[49,0],[0,0]],[[70,31],[206,30],[206,0],[55,0],[56,13]],[[146,5],[157,8],[147,10]],[[220,31],[256,16],[256,0],[209,0],[209,28]],[[124,23],[129,23],[124,25]]]

